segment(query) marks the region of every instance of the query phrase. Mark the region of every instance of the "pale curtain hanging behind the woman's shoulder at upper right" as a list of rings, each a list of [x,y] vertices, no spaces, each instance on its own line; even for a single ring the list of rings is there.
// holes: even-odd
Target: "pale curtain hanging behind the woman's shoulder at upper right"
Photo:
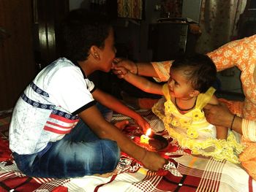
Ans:
[[[201,36],[196,51],[208,53],[237,38],[238,19],[246,0],[203,0],[200,12]]]

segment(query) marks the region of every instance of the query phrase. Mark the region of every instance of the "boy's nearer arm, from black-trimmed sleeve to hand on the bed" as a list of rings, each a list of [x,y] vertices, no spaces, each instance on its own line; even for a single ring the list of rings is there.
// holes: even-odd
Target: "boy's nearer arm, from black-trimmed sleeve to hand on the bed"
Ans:
[[[79,113],[79,116],[99,138],[116,141],[121,151],[136,158],[147,169],[157,171],[165,164],[164,158],[160,157],[157,153],[146,151],[136,145],[127,136],[122,134],[116,126],[106,121],[96,106],[83,110],[83,112]]]

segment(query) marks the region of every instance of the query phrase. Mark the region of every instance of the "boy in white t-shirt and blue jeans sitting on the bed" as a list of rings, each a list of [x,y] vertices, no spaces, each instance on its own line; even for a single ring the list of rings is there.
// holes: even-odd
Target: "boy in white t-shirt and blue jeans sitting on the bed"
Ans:
[[[108,123],[96,101],[149,124],[138,113],[94,87],[87,76],[109,72],[115,58],[113,28],[100,15],[74,10],[64,20],[64,58],[42,69],[15,105],[10,149],[18,168],[31,177],[83,177],[113,172],[120,150],[152,171],[165,164]]]

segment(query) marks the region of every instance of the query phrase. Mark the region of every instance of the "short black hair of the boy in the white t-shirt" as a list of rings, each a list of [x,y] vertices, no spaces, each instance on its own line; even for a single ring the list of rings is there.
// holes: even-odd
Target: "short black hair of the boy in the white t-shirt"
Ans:
[[[110,28],[110,19],[106,15],[86,9],[72,10],[61,25],[63,56],[72,61],[86,60],[92,45],[105,46]]]

